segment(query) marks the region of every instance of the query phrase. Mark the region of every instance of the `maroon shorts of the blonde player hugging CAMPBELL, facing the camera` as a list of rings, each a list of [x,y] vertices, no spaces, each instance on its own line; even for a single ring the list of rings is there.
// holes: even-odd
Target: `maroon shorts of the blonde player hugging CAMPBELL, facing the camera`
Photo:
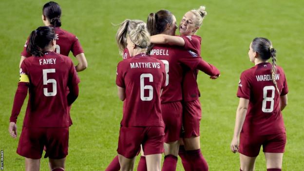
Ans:
[[[195,101],[183,102],[183,128],[184,138],[199,136],[200,121],[202,118],[202,109],[199,99]]]

